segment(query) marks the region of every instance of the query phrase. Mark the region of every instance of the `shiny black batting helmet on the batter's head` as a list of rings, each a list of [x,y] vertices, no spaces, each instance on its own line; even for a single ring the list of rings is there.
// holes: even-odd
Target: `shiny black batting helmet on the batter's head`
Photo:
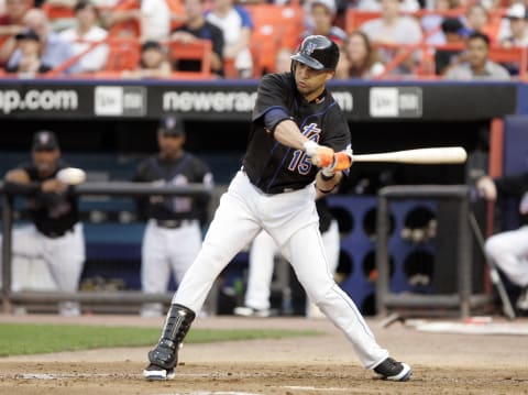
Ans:
[[[292,61],[302,63],[316,70],[334,70],[339,61],[339,47],[323,35],[309,35],[302,40]]]

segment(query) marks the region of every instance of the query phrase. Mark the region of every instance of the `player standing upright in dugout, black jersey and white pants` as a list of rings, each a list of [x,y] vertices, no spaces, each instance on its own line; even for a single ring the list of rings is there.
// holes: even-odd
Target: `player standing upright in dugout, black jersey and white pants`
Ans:
[[[189,183],[212,187],[208,165],[184,150],[182,120],[173,114],[160,122],[160,153],[143,161],[135,182],[186,186]],[[182,281],[201,248],[200,222],[208,220],[207,199],[190,196],[151,196],[139,200],[140,217],[147,219],[142,245],[141,281],[144,293],[167,290],[170,272]],[[143,317],[161,317],[161,304],[144,304]]]

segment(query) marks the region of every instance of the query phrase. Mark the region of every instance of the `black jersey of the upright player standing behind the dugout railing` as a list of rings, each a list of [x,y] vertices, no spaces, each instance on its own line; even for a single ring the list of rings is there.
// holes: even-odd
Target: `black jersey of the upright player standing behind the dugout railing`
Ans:
[[[212,185],[209,166],[200,158],[186,152],[176,161],[151,156],[138,166],[134,182],[155,183],[157,185]],[[158,220],[199,219],[206,220],[207,202],[205,197],[190,196],[150,196],[141,199],[139,210],[142,217]]]

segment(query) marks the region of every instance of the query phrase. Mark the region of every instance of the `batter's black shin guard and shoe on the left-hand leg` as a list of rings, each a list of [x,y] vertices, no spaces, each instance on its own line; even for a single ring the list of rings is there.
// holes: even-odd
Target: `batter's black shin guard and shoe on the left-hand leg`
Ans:
[[[147,380],[166,380],[160,376],[160,372],[165,373],[173,370],[178,363],[178,349],[182,347],[185,336],[189,331],[190,325],[196,317],[195,311],[182,305],[172,305],[163,333],[156,347],[148,352],[148,365],[143,375]],[[153,369],[160,367],[160,369]]]

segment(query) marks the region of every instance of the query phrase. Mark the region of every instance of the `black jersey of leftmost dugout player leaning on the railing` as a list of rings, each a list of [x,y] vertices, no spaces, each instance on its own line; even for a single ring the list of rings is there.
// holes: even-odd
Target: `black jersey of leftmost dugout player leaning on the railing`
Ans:
[[[68,166],[59,161],[56,171],[48,177],[41,177],[34,164],[25,164],[20,168],[28,173],[32,182],[42,183],[54,178],[64,167]],[[40,190],[28,198],[28,210],[35,228],[50,238],[64,235],[79,221],[78,197],[74,187],[68,187],[64,194]]]

